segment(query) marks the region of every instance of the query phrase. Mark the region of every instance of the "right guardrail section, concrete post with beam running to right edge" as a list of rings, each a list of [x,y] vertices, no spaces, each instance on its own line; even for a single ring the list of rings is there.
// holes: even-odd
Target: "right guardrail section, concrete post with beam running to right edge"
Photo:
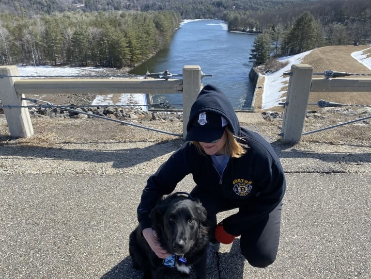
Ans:
[[[285,142],[300,141],[310,92],[371,93],[371,78],[313,78],[313,67],[307,64],[293,65],[287,74],[290,80],[280,134]]]

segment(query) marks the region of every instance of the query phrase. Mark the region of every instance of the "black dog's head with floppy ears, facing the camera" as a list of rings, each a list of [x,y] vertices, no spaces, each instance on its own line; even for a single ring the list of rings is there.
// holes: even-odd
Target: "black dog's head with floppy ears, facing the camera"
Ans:
[[[201,203],[186,197],[164,201],[151,212],[161,245],[176,255],[185,255],[197,249],[201,241],[205,242],[208,235],[206,217]]]

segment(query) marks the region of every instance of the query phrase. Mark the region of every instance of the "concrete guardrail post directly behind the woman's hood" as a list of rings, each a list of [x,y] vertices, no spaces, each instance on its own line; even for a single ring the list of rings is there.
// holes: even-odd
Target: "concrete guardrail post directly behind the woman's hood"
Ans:
[[[201,90],[201,67],[183,67],[183,138],[187,135],[187,123],[193,102]]]

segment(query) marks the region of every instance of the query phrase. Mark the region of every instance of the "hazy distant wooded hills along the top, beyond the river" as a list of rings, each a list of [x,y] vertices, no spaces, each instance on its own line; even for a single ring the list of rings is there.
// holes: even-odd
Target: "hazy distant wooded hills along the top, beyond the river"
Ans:
[[[226,11],[264,11],[313,0],[1,0],[0,11],[35,16],[40,13],[94,11],[176,11],[183,19],[220,18]]]

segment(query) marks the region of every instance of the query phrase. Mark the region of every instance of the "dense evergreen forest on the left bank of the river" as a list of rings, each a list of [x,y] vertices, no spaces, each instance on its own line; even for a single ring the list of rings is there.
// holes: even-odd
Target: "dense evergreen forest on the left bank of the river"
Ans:
[[[0,14],[0,65],[135,66],[170,44],[173,11]]]

